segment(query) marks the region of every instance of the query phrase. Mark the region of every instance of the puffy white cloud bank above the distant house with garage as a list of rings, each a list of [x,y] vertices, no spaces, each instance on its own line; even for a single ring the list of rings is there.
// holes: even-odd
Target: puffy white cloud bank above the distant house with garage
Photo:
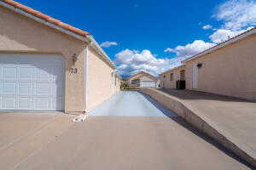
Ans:
[[[147,71],[157,76],[163,71],[181,65],[181,60],[183,60],[181,57],[175,59],[157,59],[148,49],[144,49],[141,52],[125,49],[115,54],[115,57],[115,63],[119,65],[119,74],[124,76],[130,76],[139,71]]]

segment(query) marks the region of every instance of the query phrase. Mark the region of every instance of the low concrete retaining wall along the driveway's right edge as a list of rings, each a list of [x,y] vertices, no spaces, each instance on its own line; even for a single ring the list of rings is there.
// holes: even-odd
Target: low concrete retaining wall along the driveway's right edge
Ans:
[[[212,137],[212,139],[218,141],[219,144],[224,145],[224,147],[236,153],[237,156],[240,156],[253,165],[253,167],[256,167],[256,161],[252,156],[249,156],[244,150],[241,150],[236,144],[224,137],[224,135],[220,133],[220,129],[212,127],[210,121],[203,120],[200,116],[197,116],[195,109],[191,108],[191,106],[187,105],[183,100],[152,88],[143,88],[142,92],[151,96],[167,109],[174,111],[178,116],[183,117],[183,119],[198,128],[201,132],[206,133],[208,136]]]

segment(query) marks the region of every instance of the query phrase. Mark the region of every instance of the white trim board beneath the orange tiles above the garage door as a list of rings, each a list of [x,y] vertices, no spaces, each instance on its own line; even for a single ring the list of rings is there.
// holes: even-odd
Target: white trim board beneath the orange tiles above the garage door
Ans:
[[[82,41],[85,41],[85,42],[88,42],[88,40],[86,40],[86,37],[82,37],[82,36],[79,36],[78,34],[75,34],[73,33],[72,31],[67,31],[66,29],[62,28],[61,26],[55,26],[54,24],[48,22],[48,21],[45,21],[45,20],[42,20],[32,14],[29,14],[29,13],[26,13],[25,11],[21,10],[20,8],[15,8],[14,6],[12,5],[9,5],[8,3],[3,3],[2,1],[0,1],[0,5],[3,5],[3,7],[6,7],[6,8],[9,8],[13,11],[15,11],[16,13],[18,14],[22,14],[22,15],[25,15],[26,17],[32,19],[32,20],[36,20],[46,26],[49,26],[51,28],[54,28],[58,31],[61,31],[63,33],[66,33],[72,37],[75,37],[75,38],[78,38],[79,40],[82,40]]]

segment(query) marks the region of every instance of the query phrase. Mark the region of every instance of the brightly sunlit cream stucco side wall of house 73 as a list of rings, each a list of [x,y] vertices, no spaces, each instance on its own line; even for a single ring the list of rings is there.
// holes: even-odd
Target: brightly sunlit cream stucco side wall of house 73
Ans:
[[[95,108],[114,94],[113,68],[96,52],[89,50],[89,97],[87,110]]]

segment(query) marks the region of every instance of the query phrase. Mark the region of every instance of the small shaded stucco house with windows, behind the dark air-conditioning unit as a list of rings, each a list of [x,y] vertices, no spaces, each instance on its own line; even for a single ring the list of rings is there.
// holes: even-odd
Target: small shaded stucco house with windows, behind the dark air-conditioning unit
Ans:
[[[180,65],[160,74],[160,88],[177,88],[177,81],[185,81],[185,65]]]

